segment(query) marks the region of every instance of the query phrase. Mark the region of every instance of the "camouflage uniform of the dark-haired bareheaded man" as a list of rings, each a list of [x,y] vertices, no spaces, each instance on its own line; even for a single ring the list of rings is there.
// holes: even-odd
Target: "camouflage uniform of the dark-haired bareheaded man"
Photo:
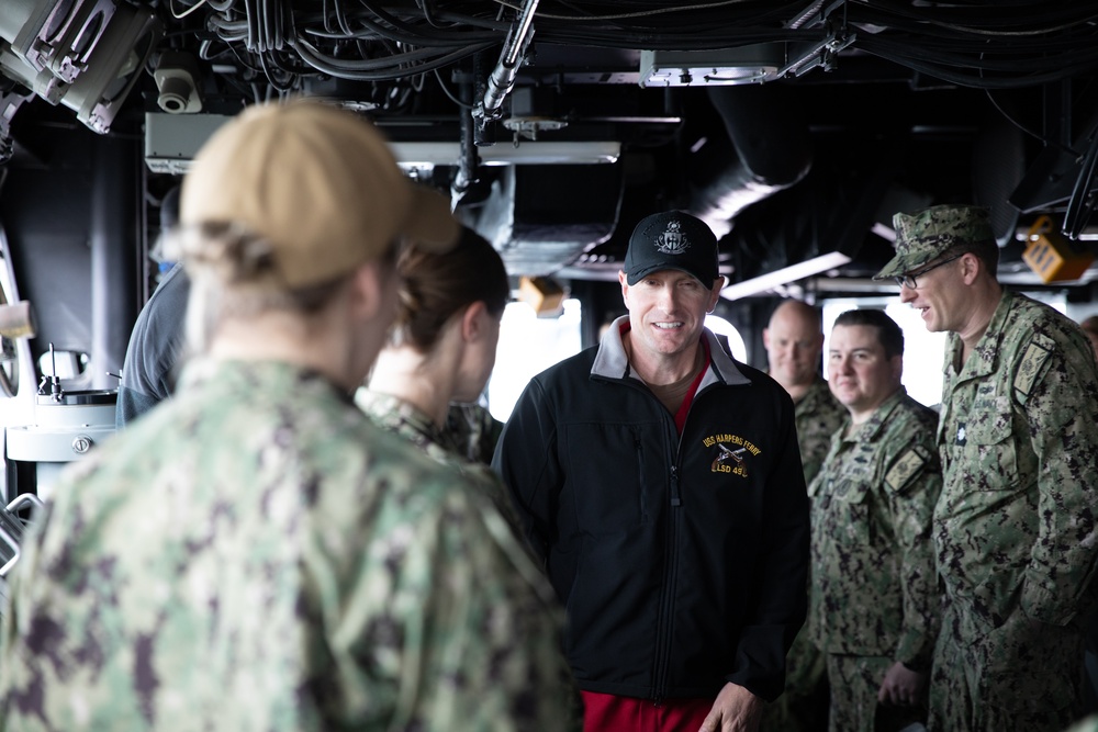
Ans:
[[[897,661],[930,669],[940,605],[930,542],[942,487],[937,424],[900,387],[863,425],[836,433],[808,488],[810,628],[827,655],[831,732],[926,721],[925,709],[879,705],[877,691]]]

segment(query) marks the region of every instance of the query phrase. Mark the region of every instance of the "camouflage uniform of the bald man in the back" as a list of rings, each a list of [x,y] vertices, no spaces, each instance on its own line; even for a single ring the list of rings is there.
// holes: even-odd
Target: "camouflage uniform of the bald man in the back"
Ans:
[[[827,382],[819,375],[794,404],[794,408],[800,463],[805,469],[807,485],[819,473],[831,444],[831,437],[847,418],[847,409],[832,396]],[[761,725],[763,732],[811,732],[826,729],[827,668],[824,654],[811,640],[811,624],[813,618],[809,615],[786,655],[785,692],[766,705]]]

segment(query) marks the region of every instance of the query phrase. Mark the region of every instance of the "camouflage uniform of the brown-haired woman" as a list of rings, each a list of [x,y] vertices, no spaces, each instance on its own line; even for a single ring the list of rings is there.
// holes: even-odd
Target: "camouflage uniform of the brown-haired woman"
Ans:
[[[355,402],[380,427],[411,441],[434,460],[460,471],[492,499],[500,513],[516,532],[518,531],[518,516],[503,481],[486,463],[474,462],[464,457],[471,446],[483,437],[474,426],[463,418],[448,419],[447,428],[439,429],[434,420],[415,405],[391,394],[381,394],[368,388],[359,388],[355,393]],[[455,409],[451,408],[451,415]],[[460,417],[461,414],[463,413],[456,416]],[[461,427],[450,429],[450,425],[455,423]],[[491,454],[489,459],[491,460]],[[520,537],[522,533],[516,536]]]

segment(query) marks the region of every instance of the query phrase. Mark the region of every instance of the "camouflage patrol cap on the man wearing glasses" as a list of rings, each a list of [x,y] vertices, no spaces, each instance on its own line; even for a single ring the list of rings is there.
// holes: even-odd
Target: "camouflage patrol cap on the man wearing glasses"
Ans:
[[[896,256],[873,275],[885,280],[919,269],[959,244],[994,241],[989,212],[972,205],[944,204],[893,216]]]

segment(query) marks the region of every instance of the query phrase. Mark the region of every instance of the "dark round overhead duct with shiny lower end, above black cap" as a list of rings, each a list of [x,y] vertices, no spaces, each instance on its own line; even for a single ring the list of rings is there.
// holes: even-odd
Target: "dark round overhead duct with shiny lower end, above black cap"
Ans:
[[[753,203],[799,182],[813,164],[808,125],[775,86],[714,87],[709,100],[727,138],[713,137],[691,159],[691,213],[718,237]]]

